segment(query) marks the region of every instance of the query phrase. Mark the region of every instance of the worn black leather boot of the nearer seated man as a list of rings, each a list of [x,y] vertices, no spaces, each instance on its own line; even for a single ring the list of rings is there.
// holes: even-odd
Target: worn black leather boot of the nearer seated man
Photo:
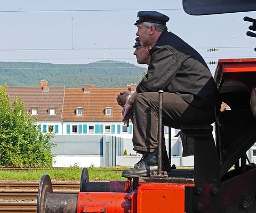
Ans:
[[[157,154],[143,154],[133,169],[123,170],[122,177],[149,177],[152,171],[157,171],[157,161]]]

